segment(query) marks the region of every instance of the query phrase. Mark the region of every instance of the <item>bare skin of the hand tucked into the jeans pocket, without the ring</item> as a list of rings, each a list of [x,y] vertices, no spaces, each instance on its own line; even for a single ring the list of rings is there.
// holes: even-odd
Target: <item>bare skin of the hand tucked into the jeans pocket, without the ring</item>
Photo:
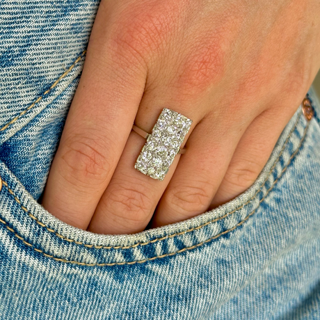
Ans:
[[[42,205],[101,234],[183,221],[253,184],[320,67],[318,0],[102,0]],[[166,178],[134,168],[163,107],[193,120]]]

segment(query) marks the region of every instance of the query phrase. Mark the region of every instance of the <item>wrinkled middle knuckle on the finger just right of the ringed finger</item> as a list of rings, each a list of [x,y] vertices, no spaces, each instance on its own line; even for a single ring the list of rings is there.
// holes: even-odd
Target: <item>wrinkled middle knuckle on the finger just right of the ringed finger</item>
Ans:
[[[205,211],[212,198],[211,189],[212,186],[203,183],[174,187],[168,193],[169,204],[180,214]]]

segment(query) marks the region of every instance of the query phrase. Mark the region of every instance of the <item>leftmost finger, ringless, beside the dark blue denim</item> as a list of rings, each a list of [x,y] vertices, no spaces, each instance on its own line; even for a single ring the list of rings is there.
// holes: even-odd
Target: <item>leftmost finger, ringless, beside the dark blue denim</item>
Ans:
[[[54,216],[83,229],[125,147],[146,77],[134,53],[114,45],[101,10],[42,202]]]

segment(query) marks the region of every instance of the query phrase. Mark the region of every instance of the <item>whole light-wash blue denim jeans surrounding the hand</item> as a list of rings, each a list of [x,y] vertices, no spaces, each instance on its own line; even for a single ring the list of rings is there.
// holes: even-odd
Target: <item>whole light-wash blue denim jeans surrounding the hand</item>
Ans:
[[[314,118],[299,106],[253,186],[217,209],[101,235],[39,205],[98,5],[0,2],[0,319],[320,319],[311,89]]]

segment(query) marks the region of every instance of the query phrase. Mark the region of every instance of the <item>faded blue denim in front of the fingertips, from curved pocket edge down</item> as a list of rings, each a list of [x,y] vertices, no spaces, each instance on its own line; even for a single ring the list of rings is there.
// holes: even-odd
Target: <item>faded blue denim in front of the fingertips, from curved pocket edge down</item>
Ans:
[[[319,314],[319,137],[317,120],[307,122],[299,108],[250,189],[195,218],[138,234],[93,234],[59,221],[0,163],[1,317]]]

